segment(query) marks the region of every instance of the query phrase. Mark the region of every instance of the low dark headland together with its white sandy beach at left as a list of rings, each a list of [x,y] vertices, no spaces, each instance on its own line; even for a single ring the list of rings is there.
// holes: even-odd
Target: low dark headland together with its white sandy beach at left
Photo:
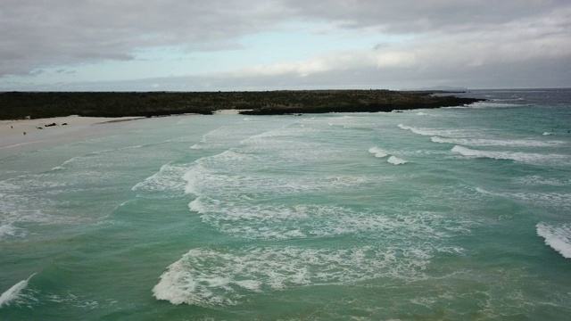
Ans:
[[[95,129],[91,128],[95,124],[148,117],[188,114],[299,115],[388,112],[460,106],[483,101],[443,94],[446,93],[390,90],[2,93],[0,153],[4,154],[8,150],[21,151],[23,146],[70,136],[88,136],[95,132]]]

